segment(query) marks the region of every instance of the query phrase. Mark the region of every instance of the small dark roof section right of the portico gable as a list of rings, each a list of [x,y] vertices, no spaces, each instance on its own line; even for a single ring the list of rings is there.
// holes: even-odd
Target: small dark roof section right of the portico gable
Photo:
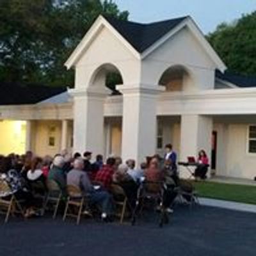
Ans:
[[[216,70],[216,77],[239,87],[256,87],[256,76],[241,76],[228,71],[221,73],[220,70]]]

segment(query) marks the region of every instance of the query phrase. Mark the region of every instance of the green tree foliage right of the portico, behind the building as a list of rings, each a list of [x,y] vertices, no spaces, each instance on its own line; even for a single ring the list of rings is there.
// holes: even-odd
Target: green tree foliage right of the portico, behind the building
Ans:
[[[220,24],[207,38],[228,70],[256,76],[256,12]]]

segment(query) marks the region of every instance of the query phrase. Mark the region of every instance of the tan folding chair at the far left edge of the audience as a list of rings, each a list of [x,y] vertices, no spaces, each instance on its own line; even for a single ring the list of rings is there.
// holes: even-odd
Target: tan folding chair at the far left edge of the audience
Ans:
[[[24,211],[20,205],[19,200],[12,194],[8,183],[0,179],[0,195],[6,195],[0,197],[0,208],[6,209],[6,211],[0,211],[1,214],[5,214],[4,223],[8,222],[10,214],[15,214],[15,212],[22,214],[24,216]],[[7,199],[8,198],[8,199]]]

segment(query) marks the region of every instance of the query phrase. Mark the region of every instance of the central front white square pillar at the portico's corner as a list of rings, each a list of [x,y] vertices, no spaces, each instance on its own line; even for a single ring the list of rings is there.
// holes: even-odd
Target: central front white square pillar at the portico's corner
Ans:
[[[162,86],[122,85],[123,93],[122,158],[140,164],[156,154],[156,107]]]

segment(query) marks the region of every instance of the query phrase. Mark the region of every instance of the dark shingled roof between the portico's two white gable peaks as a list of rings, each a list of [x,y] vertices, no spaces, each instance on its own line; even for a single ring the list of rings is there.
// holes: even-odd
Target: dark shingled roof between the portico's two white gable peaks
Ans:
[[[164,20],[149,24],[141,24],[125,20],[117,20],[113,17],[104,18],[127,40],[138,52],[143,52],[171,31],[186,17]]]

